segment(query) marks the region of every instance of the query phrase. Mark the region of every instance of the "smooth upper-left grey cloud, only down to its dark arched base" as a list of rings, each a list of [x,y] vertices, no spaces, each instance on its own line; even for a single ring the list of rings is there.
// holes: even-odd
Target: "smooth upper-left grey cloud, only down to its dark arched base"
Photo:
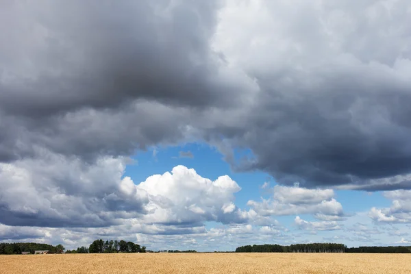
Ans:
[[[2,5],[5,112],[47,116],[136,98],[192,106],[230,101],[229,92],[219,92],[208,47],[216,1]]]

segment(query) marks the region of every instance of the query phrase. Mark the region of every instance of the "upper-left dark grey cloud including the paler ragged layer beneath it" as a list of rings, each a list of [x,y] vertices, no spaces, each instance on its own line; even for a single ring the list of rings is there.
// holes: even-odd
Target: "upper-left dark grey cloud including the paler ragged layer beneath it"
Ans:
[[[176,143],[188,110],[233,103],[209,47],[217,1],[1,5],[3,162],[37,146],[94,160]]]

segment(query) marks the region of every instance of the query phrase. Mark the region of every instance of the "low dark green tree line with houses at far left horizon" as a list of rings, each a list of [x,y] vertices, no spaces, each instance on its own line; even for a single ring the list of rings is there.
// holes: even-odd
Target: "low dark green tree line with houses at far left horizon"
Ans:
[[[0,243],[0,254],[21,254],[22,252],[29,252],[34,254],[36,250],[48,250],[49,253],[63,253],[63,245],[47,245],[38,244],[36,242],[1,242]]]

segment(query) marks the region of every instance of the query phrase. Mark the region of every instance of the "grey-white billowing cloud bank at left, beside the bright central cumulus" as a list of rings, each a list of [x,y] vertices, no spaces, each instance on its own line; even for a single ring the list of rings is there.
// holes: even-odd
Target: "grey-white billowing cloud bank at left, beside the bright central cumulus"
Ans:
[[[139,216],[148,202],[128,178],[126,158],[87,165],[49,151],[41,157],[0,164],[0,222],[5,225],[105,226]]]

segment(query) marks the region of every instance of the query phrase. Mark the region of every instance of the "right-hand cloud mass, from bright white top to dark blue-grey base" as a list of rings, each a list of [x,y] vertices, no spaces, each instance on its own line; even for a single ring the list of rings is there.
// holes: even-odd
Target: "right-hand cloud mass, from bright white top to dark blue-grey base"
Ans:
[[[227,62],[242,64],[259,92],[235,115],[216,114],[207,140],[237,170],[266,171],[281,184],[410,188],[409,179],[375,182],[411,172],[410,3],[297,2],[298,10],[262,5],[269,15],[258,10],[258,25],[271,28],[247,32],[231,22],[242,29],[243,51],[223,45]],[[229,153],[235,147],[253,157],[237,162]]]

